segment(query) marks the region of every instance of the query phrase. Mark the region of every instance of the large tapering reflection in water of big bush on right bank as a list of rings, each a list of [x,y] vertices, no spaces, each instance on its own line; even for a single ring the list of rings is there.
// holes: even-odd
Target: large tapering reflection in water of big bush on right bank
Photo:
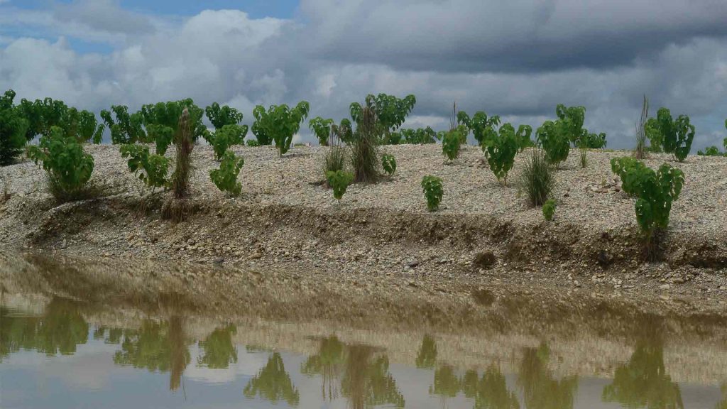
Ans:
[[[629,362],[619,365],[613,383],[603,388],[603,401],[627,408],[684,408],[679,385],[664,368],[664,346],[658,335],[637,341]]]

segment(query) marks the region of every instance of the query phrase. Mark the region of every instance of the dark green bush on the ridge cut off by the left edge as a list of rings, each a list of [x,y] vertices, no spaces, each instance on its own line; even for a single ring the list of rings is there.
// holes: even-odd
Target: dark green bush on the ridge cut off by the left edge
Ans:
[[[15,91],[7,90],[0,98],[0,166],[11,164],[23,152],[28,120],[14,106]]]

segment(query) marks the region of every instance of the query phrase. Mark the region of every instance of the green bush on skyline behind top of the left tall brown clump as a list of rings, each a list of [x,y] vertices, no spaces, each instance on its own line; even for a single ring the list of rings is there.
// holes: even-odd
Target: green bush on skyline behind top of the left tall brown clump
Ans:
[[[148,140],[156,143],[156,154],[164,155],[166,148],[174,142],[174,136],[178,133],[180,118],[185,108],[189,115],[190,138],[194,142],[198,138],[204,137],[207,129],[202,123],[204,110],[194,105],[192,99],[142,106],[142,122],[146,128]]]

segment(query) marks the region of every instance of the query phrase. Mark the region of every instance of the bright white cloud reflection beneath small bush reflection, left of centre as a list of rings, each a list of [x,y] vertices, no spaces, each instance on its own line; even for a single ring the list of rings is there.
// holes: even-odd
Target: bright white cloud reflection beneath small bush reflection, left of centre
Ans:
[[[202,354],[201,348],[197,345],[190,346],[190,354],[192,362],[197,362],[197,357]],[[228,368],[210,369],[199,367],[197,365],[189,365],[185,370],[185,378],[204,382],[206,384],[224,384],[235,381],[239,376],[252,377],[268,362],[268,354],[246,352],[244,347],[238,346],[237,362],[230,363]]]

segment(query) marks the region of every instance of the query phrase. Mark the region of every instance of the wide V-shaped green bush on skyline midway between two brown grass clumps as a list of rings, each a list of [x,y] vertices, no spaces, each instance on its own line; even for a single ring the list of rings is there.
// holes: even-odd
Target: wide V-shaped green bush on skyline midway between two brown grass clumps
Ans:
[[[271,105],[268,111],[263,106],[256,106],[252,111],[255,117],[252,132],[261,145],[270,145],[274,141],[278,155],[283,156],[290,149],[293,135],[300,130],[309,110],[310,104],[306,101],[300,101],[294,108],[285,104]]]

